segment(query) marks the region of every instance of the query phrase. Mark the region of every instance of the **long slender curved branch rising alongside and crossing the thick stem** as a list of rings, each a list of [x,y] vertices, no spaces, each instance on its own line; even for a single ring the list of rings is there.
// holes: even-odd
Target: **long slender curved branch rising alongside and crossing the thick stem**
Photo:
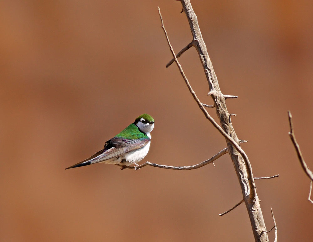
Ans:
[[[184,78],[184,81],[190,91],[190,93],[192,94],[192,97],[195,99],[195,101],[197,102],[199,108],[201,109],[201,111],[204,113],[205,117],[213,124],[213,126],[218,129],[218,131],[226,138],[229,140],[229,142],[238,150],[238,152],[242,155],[243,159],[244,159],[244,162],[245,162],[245,165],[246,165],[246,169],[247,169],[247,179],[250,181],[250,184],[249,186],[251,185],[251,188],[252,188],[252,191],[249,191],[249,190],[245,190],[245,196],[248,196],[250,197],[251,200],[255,200],[255,194],[256,194],[256,186],[255,186],[255,183],[254,183],[254,180],[253,180],[253,176],[252,176],[252,167],[251,167],[251,164],[250,164],[250,161],[248,159],[248,156],[246,155],[246,153],[244,152],[243,149],[240,148],[239,144],[236,143],[236,141],[231,137],[229,136],[216,122],[215,120],[209,115],[208,111],[203,107],[202,103],[200,102],[199,98],[197,97],[196,93],[193,91],[184,71],[182,70],[182,66],[181,64],[178,62],[177,58],[176,58],[176,55],[175,55],[175,52],[173,50],[173,47],[170,43],[170,40],[167,36],[167,32],[165,30],[165,27],[164,27],[164,24],[163,24],[163,18],[162,18],[162,15],[161,15],[161,11],[160,11],[160,8],[158,7],[158,10],[159,10],[159,15],[160,15],[160,19],[161,19],[161,23],[162,23],[162,29],[164,31],[164,34],[165,34],[165,37],[167,39],[167,44],[168,46],[170,47],[170,50],[172,52],[172,55],[173,55],[173,58],[175,59],[175,62],[177,64],[177,67],[179,69],[179,72],[181,73],[182,77]],[[208,93],[209,94],[209,93]],[[229,96],[229,95],[224,95],[225,96]],[[229,97],[236,97],[236,96],[229,96]],[[236,97],[237,98],[237,97]]]

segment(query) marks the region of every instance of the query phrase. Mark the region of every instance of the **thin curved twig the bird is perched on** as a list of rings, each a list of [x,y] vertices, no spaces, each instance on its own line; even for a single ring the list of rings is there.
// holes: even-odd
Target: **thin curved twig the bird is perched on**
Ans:
[[[203,167],[207,164],[210,164],[210,163],[213,163],[214,160],[220,158],[222,155],[226,154],[228,152],[227,148],[225,149],[222,149],[220,152],[218,152],[216,155],[214,155],[213,157],[211,157],[210,159],[208,160],[205,160],[203,162],[200,162],[199,164],[196,164],[196,165],[190,165],[190,166],[170,166],[170,165],[159,165],[159,164],[155,164],[155,163],[151,163],[149,161],[147,161],[146,163],[144,164],[141,164],[139,166],[123,166],[123,165],[119,165],[119,164],[116,164],[118,166],[121,166],[121,169],[139,169],[141,167],[144,167],[144,166],[154,166],[154,167],[158,167],[158,168],[163,168],[163,169],[171,169],[171,170],[194,170],[194,169],[198,169],[200,167]],[[215,165],[214,165],[215,166]]]

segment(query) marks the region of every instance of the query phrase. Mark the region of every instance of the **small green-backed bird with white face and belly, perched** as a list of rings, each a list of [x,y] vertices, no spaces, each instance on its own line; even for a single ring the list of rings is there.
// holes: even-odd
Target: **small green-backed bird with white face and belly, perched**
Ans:
[[[104,149],[88,159],[66,169],[103,162],[132,166],[146,157],[150,148],[150,132],[154,128],[154,119],[149,114],[142,114],[135,122],[126,127],[112,139],[105,142]]]

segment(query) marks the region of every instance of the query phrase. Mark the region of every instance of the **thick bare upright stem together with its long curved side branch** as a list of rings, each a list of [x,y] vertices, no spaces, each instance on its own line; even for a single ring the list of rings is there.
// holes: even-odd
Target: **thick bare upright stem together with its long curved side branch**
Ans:
[[[214,121],[214,119],[208,114],[207,110],[203,107],[198,97],[192,90],[185,74],[182,71],[182,67],[178,63],[175,53],[169,43],[167,33],[163,25],[162,16],[159,10],[159,14],[160,14],[161,22],[162,22],[162,28],[166,35],[167,43],[170,46],[173,58],[175,59],[175,62],[179,68],[179,71],[182,77],[184,78],[185,83],[190,93],[192,94],[193,98],[197,102],[199,108],[204,113],[205,117],[213,124],[213,126],[216,129],[218,129],[218,131],[226,139],[228,153],[230,155],[230,158],[232,159],[232,162],[233,162],[233,165],[234,165],[234,168],[235,168],[238,180],[239,180],[239,184],[240,184],[242,194],[243,194],[244,203],[247,207],[247,211],[249,214],[249,219],[250,219],[250,223],[252,226],[252,231],[254,234],[255,241],[269,242],[267,233],[264,233],[261,237],[259,236],[261,230],[266,230],[266,226],[265,226],[264,218],[262,215],[261,206],[259,204],[259,198],[256,193],[256,187],[255,187],[255,183],[253,179],[251,164],[247,155],[243,151],[243,149],[240,148],[239,139],[237,137],[235,130],[233,129],[231,120],[229,119],[228,111],[227,111],[227,107],[225,103],[225,97],[223,93],[221,92],[221,89],[218,84],[217,76],[213,69],[212,62],[210,60],[210,57],[208,56],[208,51],[203,41],[203,37],[202,37],[200,27],[198,24],[197,15],[192,9],[190,0],[180,0],[180,2],[182,3],[184,13],[186,14],[186,17],[188,19],[193,41],[195,42],[195,49],[198,52],[201,64],[203,66],[205,77],[208,81],[208,85],[209,85],[208,95],[211,95],[215,103],[216,113],[217,113],[221,126],[219,126]],[[233,96],[233,98],[234,97],[235,96]]]

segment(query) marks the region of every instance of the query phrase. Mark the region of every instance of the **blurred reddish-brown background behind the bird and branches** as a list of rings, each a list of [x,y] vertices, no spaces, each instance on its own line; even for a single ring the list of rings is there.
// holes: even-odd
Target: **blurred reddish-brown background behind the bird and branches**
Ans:
[[[311,167],[311,1],[192,1],[233,125],[249,156],[267,228],[312,241],[310,180],[288,136],[287,110]],[[95,164],[64,170],[141,113],[156,125],[144,161],[192,165],[226,147],[171,59],[191,41],[178,1],[2,1],[1,241],[253,241],[228,155],[191,171]],[[182,67],[203,103],[198,55]],[[216,118],[215,111],[209,109]],[[269,234],[273,240],[274,232]]]

